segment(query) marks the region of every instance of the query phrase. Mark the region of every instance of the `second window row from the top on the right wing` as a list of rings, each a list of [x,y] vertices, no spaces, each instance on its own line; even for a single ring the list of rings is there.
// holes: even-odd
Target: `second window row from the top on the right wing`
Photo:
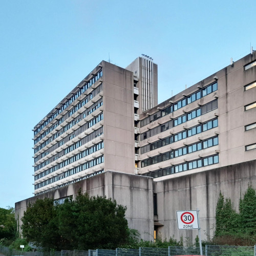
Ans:
[[[209,111],[212,111],[212,110],[215,110],[218,108],[218,102],[217,100],[214,100],[214,101],[211,101],[203,106],[201,106],[200,108],[196,109],[196,110],[193,110],[193,111],[190,111],[182,116],[179,116],[177,117],[176,119],[174,120],[170,120],[166,123],[163,123],[161,125],[158,125],[156,127],[154,127],[153,129],[147,131],[147,132],[144,132],[140,135],[140,141],[142,140],[145,140],[147,138],[150,138],[156,134],[159,134],[159,133],[162,133],[174,126],[177,126],[181,123],[184,123],[186,121],[189,121],[191,119],[194,119],[196,117],[199,117],[201,115],[204,115],[205,113],[209,112]]]

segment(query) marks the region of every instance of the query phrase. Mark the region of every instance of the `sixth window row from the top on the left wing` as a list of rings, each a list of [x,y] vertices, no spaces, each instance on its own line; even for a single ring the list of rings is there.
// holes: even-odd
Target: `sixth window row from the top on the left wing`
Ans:
[[[70,157],[70,158],[68,158],[68,159],[66,159],[66,160],[56,164],[55,166],[45,170],[44,172],[41,172],[40,174],[35,175],[34,178],[35,178],[35,180],[38,180],[38,179],[40,179],[42,177],[45,177],[46,175],[55,172],[55,170],[58,170],[58,169],[60,169],[62,167],[65,167],[65,166],[75,162],[75,161],[78,161],[78,160],[80,160],[83,157],[87,157],[87,156],[93,154],[94,152],[97,152],[97,151],[101,150],[102,148],[103,148],[103,142],[100,142],[100,143],[98,143],[98,144],[96,144],[96,145],[94,145],[94,146],[92,146],[90,148],[87,148],[87,150],[79,152],[76,155],[72,155],[72,157]]]

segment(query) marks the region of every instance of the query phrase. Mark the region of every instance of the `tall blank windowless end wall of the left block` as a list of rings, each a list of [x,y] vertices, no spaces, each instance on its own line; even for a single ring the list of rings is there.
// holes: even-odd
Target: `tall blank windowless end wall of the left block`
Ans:
[[[102,61],[104,169],[134,174],[133,73]]]

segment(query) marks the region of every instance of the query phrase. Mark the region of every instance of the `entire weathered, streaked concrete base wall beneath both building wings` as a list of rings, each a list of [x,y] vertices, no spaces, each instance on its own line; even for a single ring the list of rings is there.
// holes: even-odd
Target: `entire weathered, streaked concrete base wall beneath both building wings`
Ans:
[[[79,188],[90,196],[106,196],[126,205],[130,228],[141,233],[142,239],[153,240],[154,219],[162,238],[190,238],[195,242],[197,230],[178,230],[176,210],[200,210],[202,239],[214,234],[215,210],[220,192],[230,198],[238,210],[239,199],[248,186],[256,188],[256,160],[220,167],[177,178],[153,181],[153,178],[117,172],[105,172],[49,193],[17,202],[16,217],[23,216],[29,202],[38,198],[53,199],[75,195]],[[153,212],[153,194],[157,194],[158,216]]]

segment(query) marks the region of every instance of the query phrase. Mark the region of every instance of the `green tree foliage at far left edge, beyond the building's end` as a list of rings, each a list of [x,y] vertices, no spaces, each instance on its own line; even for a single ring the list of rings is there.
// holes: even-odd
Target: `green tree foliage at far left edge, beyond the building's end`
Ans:
[[[17,226],[15,221],[14,208],[0,208],[0,239],[2,243],[13,241],[17,236]]]

